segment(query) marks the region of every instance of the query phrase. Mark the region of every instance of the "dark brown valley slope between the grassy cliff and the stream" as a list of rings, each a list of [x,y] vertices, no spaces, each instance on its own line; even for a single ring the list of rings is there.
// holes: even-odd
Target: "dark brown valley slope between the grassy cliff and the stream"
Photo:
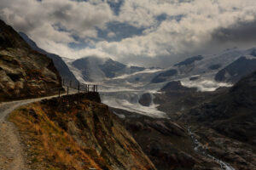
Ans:
[[[119,116],[122,115],[126,129],[141,145],[143,152],[157,169],[220,169],[216,162],[194,150],[193,141],[183,125],[130,111],[114,108],[111,110]]]

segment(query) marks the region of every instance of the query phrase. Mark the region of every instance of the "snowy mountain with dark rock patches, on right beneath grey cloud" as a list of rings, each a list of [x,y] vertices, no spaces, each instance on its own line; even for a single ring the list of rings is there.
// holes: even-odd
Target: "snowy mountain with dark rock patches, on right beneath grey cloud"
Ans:
[[[220,54],[198,55],[185,59],[165,71],[161,71],[151,82],[163,83],[181,81],[184,86],[201,88],[202,83],[210,81],[212,88],[216,84],[234,84],[241,77],[255,71],[256,48],[225,50]],[[224,82],[224,83],[222,83]],[[204,84],[206,85],[206,84]],[[208,84],[210,85],[210,84]],[[208,86],[210,88],[210,86]]]

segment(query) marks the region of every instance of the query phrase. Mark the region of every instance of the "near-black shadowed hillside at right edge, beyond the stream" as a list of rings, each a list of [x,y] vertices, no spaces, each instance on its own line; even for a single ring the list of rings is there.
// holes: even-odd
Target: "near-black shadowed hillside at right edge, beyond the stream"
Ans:
[[[236,169],[256,168],[256,71],[226,94],[183,115],[212,154]]]

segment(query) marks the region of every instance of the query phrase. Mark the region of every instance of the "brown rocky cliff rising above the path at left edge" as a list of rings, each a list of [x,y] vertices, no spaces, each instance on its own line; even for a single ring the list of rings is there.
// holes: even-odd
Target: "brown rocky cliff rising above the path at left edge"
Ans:
[[[61,77],[52,59],[0,20],[0,101],[54,94],[55,88],[61,88]]]

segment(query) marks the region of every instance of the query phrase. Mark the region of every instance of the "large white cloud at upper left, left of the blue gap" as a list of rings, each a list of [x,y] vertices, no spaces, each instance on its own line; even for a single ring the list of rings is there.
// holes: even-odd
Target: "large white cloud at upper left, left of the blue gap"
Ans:
[[[72,35],[82,39],[97,37],[96,27],[104,28],[112,16],[108,3],[102,1],[92,4],[67,0],[2,0],[0,4],[3,20],[18,31],[25,31],[47,50],[54,42],[55,46],[75,42]],[[60,25],[62,31],[56,30],[55,25]]]

